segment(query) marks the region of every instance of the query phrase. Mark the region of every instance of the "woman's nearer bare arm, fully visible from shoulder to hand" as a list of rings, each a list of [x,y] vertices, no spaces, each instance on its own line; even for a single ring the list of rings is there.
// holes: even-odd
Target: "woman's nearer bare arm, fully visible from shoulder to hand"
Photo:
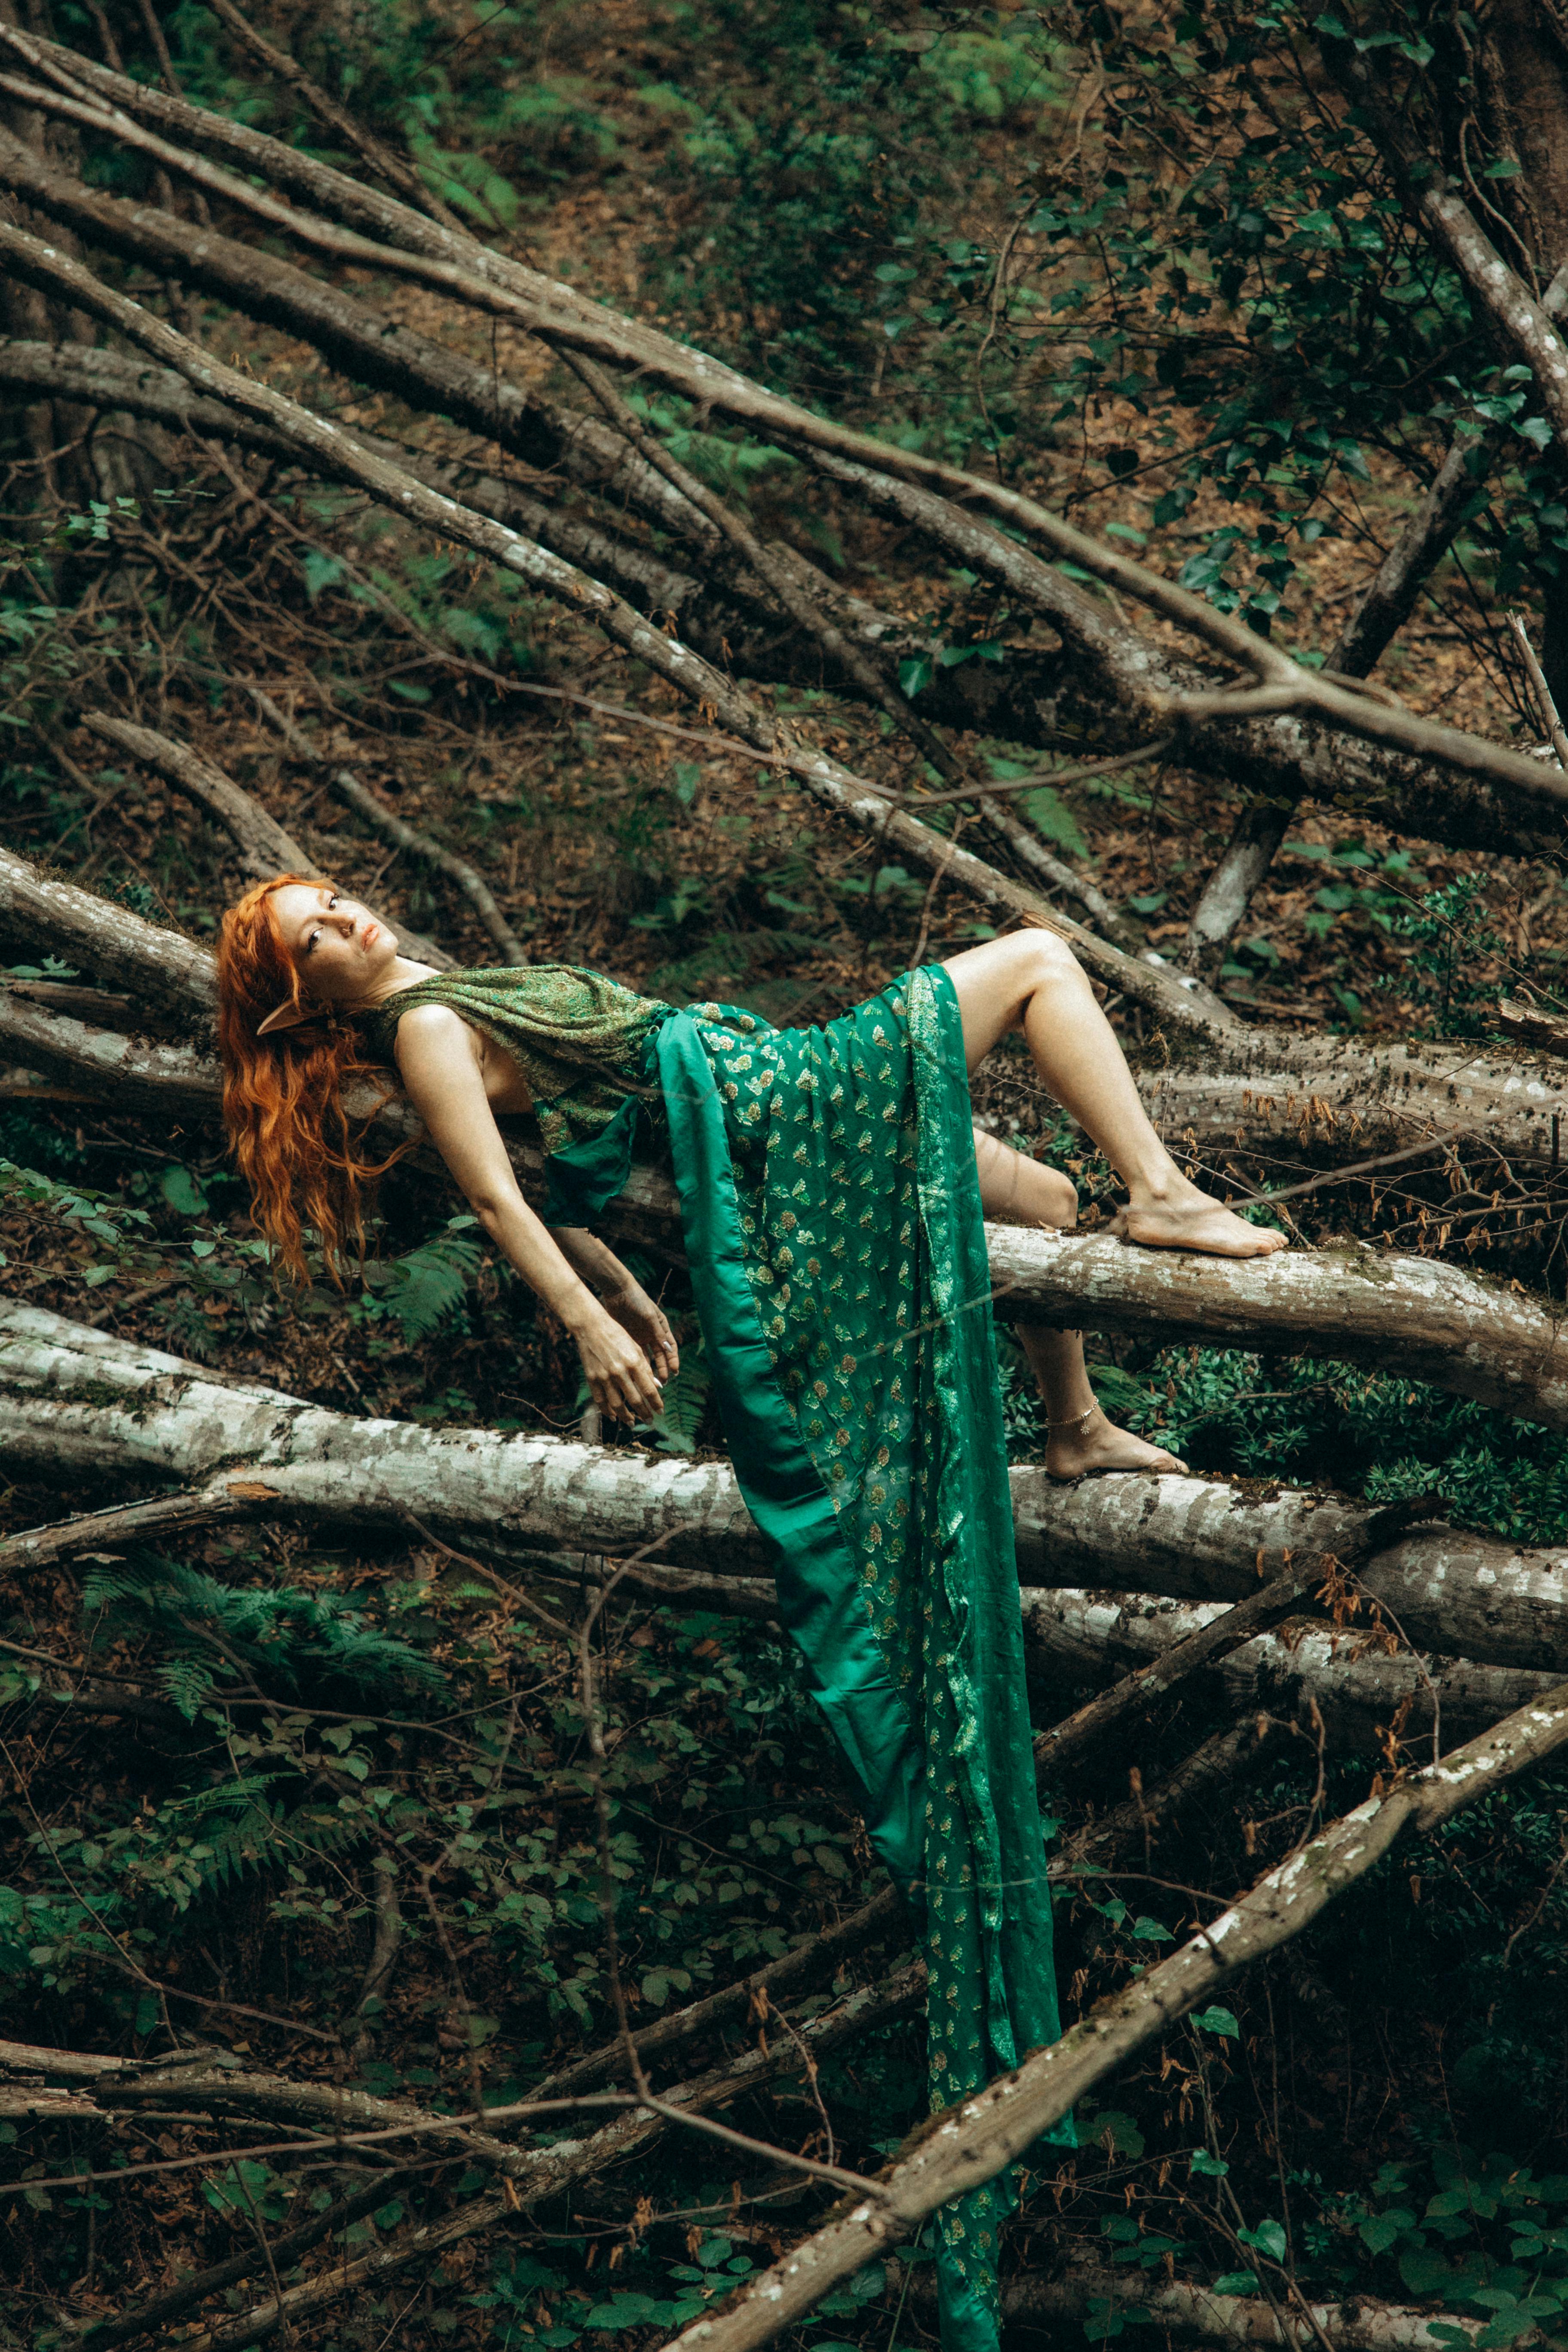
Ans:
[[[663,1397],[644,1350],[592,1296],[517,1190],[468,1023],[449,1004],[411,1007],[397,1023],[397,1070],[468,1207],[508,1265],[571,1331],[599,1411],[611,1421],[658,1414]]]

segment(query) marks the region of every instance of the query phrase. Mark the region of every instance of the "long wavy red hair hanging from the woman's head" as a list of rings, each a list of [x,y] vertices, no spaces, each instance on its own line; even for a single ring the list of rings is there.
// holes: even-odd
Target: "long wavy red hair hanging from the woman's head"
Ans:
[[[289,882],[320,889],[320,875],[256,882],[223,915],[219,931],[219,1051],[223,1124],[252,1188],[252,1216],[296,1282],[308,1282],[306,1228],[315,1228],[327,1270],[364,1256],[367,1188],[409,1148],[371,1164],[360,1157],[343,1089],[386,1070],[364,1061],[353,1023],[306,1021],[256,1030],[284,1000],[301,1004],[299,969],[284,948],[273,894]]]

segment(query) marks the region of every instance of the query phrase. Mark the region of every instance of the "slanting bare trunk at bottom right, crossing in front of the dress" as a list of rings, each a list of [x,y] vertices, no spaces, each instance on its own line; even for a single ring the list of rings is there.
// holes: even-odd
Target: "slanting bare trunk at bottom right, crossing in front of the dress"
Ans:
[[[839,2211],[823,2230],[769,2270],[748,2279],[729,2305],[684,2328],[682,2352],[759,2352],[811,2312],[842,2279],[907,2239],[929,2213],[994,2180],[1058,2124],[1088,2091],[1159,2042],[1239,1969],[1291,1943],[1361,1884],[1394,1846],[1429,1835],[1479,1804],[1568,1740],[1568,1684],[1483,1738],[1455,1748],[1441,1764],[1368,1797],[1307,1846],[1239,1896],[1218,1919],[1147,1969],[1121,1992],[1095,2002],[1060,2042],[1037,2051],[976,2098],[933,2117],[919,2145],[889,2166],[875,2194]]]

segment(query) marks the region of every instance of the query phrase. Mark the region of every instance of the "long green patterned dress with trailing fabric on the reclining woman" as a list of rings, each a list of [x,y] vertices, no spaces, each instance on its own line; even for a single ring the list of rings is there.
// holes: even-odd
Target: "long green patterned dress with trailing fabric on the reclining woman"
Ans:
[[[548,1223],[672,1167],[724,1437],[778,1611],[924,1924],[933,2107],[1056,2042],[1051,1898],[964,1030],[940,964],[825,1028],[675,1011],[571,964],[454,971],[534,1091]],[[1070,2126],[1053,2138],[1070,2140]],[[943,2209],[950,2352],[997,2345],[1011,2183]]]

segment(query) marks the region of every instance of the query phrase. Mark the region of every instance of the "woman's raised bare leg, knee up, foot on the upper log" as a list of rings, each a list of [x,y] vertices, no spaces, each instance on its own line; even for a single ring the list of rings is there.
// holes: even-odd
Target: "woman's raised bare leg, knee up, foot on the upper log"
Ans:
[[[1284,1235],[1248,1225],[1190,1183],[1138,1098],[1117,1033],[1100,1011],[1077,957],[1051,931],[987,938],[947,962],[964,1018],[971,1073],[1006,1030],[1023,1025],[1034,1068],[1128,1188],[1112,1232],[1164,1249],[1206,1249],[1260,1258]]]

